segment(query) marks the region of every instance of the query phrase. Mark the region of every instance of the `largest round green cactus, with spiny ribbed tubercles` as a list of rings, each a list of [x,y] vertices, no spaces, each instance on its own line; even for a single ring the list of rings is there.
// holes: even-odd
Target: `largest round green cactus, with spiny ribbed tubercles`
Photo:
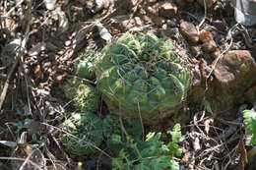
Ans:
[[[156,124],[180,108],[191,73],[172,48],[150,32],[125,33],[103,48],[96,83],[111,112]]]

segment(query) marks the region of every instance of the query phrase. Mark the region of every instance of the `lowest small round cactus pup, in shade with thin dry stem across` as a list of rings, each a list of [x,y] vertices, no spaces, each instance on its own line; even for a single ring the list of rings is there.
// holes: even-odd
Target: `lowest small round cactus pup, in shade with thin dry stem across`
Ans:
[[[103,141],[102,121],[94,113],[73,113],[64,121],[65,133],[61,142],[67,150],[75,155],[89,155],[96,153]]]

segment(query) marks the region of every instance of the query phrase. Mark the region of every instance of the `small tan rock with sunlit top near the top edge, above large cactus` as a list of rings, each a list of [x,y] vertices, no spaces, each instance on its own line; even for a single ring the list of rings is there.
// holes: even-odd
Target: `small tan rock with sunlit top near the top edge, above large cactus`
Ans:
[[[160,3],[160,16],[171,18],[177,14],[177,7],[169,1]]]

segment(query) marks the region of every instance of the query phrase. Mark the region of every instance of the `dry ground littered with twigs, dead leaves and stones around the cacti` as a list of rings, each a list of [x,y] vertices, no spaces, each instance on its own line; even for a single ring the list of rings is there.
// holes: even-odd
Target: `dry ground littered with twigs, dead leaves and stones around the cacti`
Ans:
[[[82,169],[111,169],[111,160],[104,154],[76,156],[60,142],[62,123],[76,110],[65,97],[63,85],[74,77],[73,66],[81,54],[90,50],[100,53],[104,45],[126,31],[148,30],[173,39],[174,51],[188,61],[195,74],[189,100],[177,116],[159,126],[145,125],[146,132],[162,132],[164,136],[175,123],[181,124],[183,154],[175,157],[180,169],[244,169],[250,146],[242,111],[251,109],[255,102],[256,29],[236,25],[228,1],[205,2],[59,0],[47,9],[42,0],[2,0],[0,169],[19,169],[30,155],[29,169],[44,162],[50,170],[75,169],[78,162],[82,162]],[[245,56],[242,61],[251,62],[253,69],[238,72],[243,68],[234,68],[234,81],[224,87],[224,80],[230,78],[225,76],[231,71],[224,70],[224,62],[216,67],[213,63],[230,50],[249,51],[252,57],[239,55]],[[239,87],[244,81],[250,84],[246,91]],[[95,85],[94,80],[88,82]],[[224,95],[216,93],[220,89]],[[244,95],[231,95],[228,89],[244,90]],[[107,113],[104,103],[99,112]]]

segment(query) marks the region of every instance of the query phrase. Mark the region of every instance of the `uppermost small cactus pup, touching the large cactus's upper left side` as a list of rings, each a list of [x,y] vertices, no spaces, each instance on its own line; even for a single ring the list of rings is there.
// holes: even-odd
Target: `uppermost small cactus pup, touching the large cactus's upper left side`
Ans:
[[[75,64],[75,75],[80,78],[85,78],[89,80],[96,79],[96,52],[89,51],[80,56],[80,60],[78,60]]]

